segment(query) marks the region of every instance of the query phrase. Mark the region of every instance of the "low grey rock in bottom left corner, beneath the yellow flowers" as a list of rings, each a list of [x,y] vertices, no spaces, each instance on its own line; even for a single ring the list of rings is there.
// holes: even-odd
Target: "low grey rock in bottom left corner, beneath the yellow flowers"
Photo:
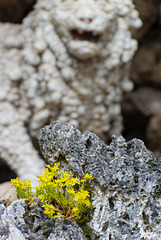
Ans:
[[[1,240],[85,240],[82,229],[73,221],[51,220],[43,214],[42,203],[27,205],[25,200],[16,200],[6,207],[0,204]]]

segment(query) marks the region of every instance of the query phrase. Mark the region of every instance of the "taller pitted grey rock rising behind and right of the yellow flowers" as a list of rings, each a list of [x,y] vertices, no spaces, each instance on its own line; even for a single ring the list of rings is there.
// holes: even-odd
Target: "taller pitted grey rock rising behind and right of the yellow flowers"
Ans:
[[[160,239],[161,159],[141,140],[114,136],[106,145],[95,134],[57,121],[41,129],[39,143],[51,165],[60,162],[79,177],[95,178],[87,223],[91,239]]]

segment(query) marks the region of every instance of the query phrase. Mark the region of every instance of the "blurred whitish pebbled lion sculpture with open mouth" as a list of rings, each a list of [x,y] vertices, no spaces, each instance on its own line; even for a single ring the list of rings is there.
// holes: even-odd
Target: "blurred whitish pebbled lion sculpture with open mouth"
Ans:
[[[53,120],[120,134],[138,26],[131,0],[39,0],[21,25],[0,24],[0,157],[21,179],[43,169],[30,138]]]

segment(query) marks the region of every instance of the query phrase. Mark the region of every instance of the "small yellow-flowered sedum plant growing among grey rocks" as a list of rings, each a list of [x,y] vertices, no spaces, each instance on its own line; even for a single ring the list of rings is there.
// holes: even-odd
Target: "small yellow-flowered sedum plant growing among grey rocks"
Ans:
[[[60,163],[53,167],[46,165],[44,174],[37,175],[39,187],[32,187],[30,180],[24,183],[18,178],[11,180],[12,187],[16,188],[18,198],[29,201],[35,197],[40,198],[44,213],[50,218],[84,221],[88,218],[86,210],[91,205],[90,194],[85,185],[93,177],[88,174],[82,179],[72,177],[68,172],[59,170],[59,165]]]

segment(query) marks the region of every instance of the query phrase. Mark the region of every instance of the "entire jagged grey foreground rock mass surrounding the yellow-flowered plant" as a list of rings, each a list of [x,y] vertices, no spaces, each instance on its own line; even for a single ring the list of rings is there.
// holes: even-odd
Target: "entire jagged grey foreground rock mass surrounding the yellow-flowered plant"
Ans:
[[[90,219],[82,231],[74,221],[50,220],[40,201],[27,206],[17,200],[6,208],[4,202],[1,239],[14,240],[17,234],[22,240],[160,240],[161,159],[141,140],[126,142],[114,136],[106,145],[93,133],[81,134],[71,124],[57,121],[41,129],[39,143],[49,164],[60,162],[62,170],[78,177],[93,175]]]

